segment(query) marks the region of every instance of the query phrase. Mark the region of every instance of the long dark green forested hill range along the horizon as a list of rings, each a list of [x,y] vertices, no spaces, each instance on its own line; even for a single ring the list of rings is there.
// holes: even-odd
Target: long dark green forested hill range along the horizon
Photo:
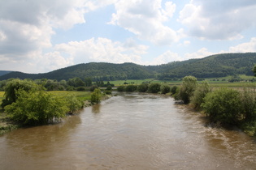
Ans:
[[[45,74],[11,72],[0,76],[0,80],[10,78],[68,80],[74,77],[81,79],[91,77],[93,80],[106,81],[147,78],[174,79],[186,75],[193,75],[197,78],[218,78],[232,74],[253,75],[254,64],[256,64],[256,53],[223,53],[183,62],[170,62],[159,66],[91,62],[68,66]]]

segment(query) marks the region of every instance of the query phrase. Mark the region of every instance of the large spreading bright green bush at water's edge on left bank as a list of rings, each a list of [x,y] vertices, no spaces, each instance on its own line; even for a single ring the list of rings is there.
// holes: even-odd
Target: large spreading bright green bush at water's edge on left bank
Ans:
[[[16,91],[18,99],[6,106],[11,119],[24,125],[41,125],[59,121],[65,117],[68,108],[63,98],[53,97],[46,91]]]

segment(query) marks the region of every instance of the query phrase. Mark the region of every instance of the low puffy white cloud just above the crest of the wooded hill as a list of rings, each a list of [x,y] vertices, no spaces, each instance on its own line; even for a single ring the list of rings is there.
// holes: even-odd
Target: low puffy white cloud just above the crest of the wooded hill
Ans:
[[[141,63],[141,54],[148,49],[145,45],[136,45],[131,39],[125,43],[113,42],[106,38],[91,38],[72,41],[55,46],[55,50],[65,53],[74,63],[82,62],[135,62]]]

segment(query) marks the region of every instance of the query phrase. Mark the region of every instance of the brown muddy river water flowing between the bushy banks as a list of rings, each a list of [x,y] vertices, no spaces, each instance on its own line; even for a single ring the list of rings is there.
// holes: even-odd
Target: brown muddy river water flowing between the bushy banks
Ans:
[[[131,93],[0,136],[0,169],[256,169],[256,142],[170,97]]]

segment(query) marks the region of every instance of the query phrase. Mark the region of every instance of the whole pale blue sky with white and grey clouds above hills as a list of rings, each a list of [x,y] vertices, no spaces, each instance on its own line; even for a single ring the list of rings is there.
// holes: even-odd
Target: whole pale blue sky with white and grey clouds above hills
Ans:
[[[255,0],[0,0],[0,70],[256,52]]]

